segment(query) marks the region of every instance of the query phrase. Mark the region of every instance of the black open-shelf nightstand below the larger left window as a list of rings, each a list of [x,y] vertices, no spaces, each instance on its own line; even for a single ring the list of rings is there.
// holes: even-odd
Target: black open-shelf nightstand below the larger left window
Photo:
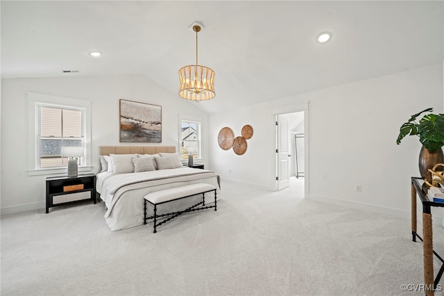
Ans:
[[[82,192],[90,192],[85,197]],[[46,178],[46,214],[53,206],[92,200],[96,204],[96,175],[54,176]]]

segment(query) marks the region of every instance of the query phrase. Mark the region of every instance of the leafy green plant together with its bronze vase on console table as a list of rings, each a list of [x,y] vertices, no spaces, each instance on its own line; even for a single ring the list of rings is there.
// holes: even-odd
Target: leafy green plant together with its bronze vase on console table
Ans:
[[[433,108],[427,108],[420,113],[411,115],[408,122],[400,127],[400,134],[396,144],[400,144],[406,135],[416,135],[422,144],[419,156],[419,170],[422,179],[432,183],[432,169],[437,163],[444,163],[444,114],[433,114]],[[425,114],[419,121],[417,118]],[[427,184],[427,183],[426,183]]]

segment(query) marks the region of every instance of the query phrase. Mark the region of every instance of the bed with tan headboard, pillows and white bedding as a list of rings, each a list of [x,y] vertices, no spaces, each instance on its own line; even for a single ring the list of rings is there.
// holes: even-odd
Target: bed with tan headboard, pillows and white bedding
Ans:
[[[96,191],[105,203],[105,221],[112,231],[144,224],[144,196],[151,192],[195,183],[211,184],[220,190],[219,176],[215,172],[184,167],[176,147],[102,146],[100,158],[101,172],[96,175]],[[151,158],[154,169],[149,161]],[[219,192],[216,194],[219,199]],[[214,195],[208,197],[208,201],[214,199]],[[171,202],[157,213],[187,208],[196,204],[199,198]],[[153,208],[148,206],[147,215],[152,213]]]

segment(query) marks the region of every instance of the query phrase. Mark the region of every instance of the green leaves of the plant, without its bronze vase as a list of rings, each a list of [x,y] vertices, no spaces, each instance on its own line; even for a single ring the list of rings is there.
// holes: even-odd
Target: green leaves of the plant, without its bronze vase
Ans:
[[[406,135],[417,135],[421,144],[429,151],[441,149],[444,146],[444,114],[429,113],[424,115],[419,122],[416,121],[422,113],[432,111],[433,108],[427,108],[411,115],[409,121],[402,124],[396,144],[400,145]]]

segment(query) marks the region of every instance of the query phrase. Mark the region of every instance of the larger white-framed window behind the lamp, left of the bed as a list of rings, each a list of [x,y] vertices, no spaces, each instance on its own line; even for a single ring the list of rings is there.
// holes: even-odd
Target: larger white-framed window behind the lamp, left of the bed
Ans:
[[[90,117],[89,101],[28,93],[30,174],[66,172],[68,156],[62,156],[62,147],[83,147],[79,171],[90,170]]]

